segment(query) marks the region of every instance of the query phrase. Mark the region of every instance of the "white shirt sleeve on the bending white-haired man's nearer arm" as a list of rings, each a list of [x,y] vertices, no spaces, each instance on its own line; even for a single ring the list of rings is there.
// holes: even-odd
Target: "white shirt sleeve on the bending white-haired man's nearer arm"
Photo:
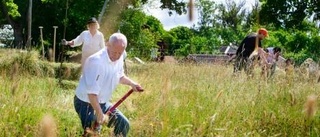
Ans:
[[[99,66],[98,60],[95,58],[88,58],[84,68],[83,75],[85,76],[86,90],[88,94],[98,95],[100,92],[100,80],[101,76],[101,66]]]

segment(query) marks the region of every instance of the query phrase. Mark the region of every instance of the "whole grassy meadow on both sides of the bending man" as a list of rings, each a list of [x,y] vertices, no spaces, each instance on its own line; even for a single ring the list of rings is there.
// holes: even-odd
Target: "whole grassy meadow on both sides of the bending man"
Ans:
[[[73,107],[79,65],[64,63],[68,77],[59,83],[60,64],[36,53],[1,50],[0,60],[0,136],[82,134]],[[320,136],[319,83],[280,72],[248,78],[219,64],[128,63],[127,69],[145,89],[119,106],[131,122],[130,137]],[[127,90],[120,85],[112,102]],[[111,131],[104,127],[101,136]]]

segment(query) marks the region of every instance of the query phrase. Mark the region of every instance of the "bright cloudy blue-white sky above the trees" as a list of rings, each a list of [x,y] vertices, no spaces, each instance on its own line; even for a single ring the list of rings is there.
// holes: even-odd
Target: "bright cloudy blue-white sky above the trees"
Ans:
[[[188,1],[188,0],[185,0]],[[194,0],[196,1],[196,0]],[[216,3],[222,3],[224,0],[212,0]],[[237,3],[240,0],[235,0]],[[246,7],[250,8],[251,5],[255,3],[255,0],[244,0],[246,1]],[[158,5],[158,6],[157,6]],[[194,18],[192,21],[189,20],[188,14],[184,15],[178,15],[176,13],[173,13],[171,16],[168,14],[168,10],[164,9],[161,10],[159,7],[160,2],[159,1],[153,1],[152,3],[149,3],[148,5],[145,5],[144,7],[144,12],[147,15],[152,15],[156,17],[157,19],[160,20],[160,22],[163,24],[163,27],[165,30],[170,30],[171,28],[177,27],[177,26],[186,26],[186,27],[191,27],[194,24],[197,24],[198,22],[198,11],[195,8],[194,11]]]

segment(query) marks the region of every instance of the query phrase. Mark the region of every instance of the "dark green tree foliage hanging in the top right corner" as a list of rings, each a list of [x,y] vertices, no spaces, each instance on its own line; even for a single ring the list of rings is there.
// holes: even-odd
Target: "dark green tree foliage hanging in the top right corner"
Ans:
[[[303,21],[314,16],[319,20],[320,2],[317,0],[260,0],[261,24],[274,24],[277,28],[304,29]],[[262,18],[263,17],[263,18]]]

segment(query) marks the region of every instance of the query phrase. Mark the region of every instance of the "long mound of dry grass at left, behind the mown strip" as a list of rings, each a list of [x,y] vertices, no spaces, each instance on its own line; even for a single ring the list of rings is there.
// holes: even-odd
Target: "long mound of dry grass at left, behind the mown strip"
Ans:
[[[54,77],[66,80],[78,80],[81,74],[80,64],[54,63],[39,59],[36,51],[1,50],[0,70],[5,75],[32,75]]]

